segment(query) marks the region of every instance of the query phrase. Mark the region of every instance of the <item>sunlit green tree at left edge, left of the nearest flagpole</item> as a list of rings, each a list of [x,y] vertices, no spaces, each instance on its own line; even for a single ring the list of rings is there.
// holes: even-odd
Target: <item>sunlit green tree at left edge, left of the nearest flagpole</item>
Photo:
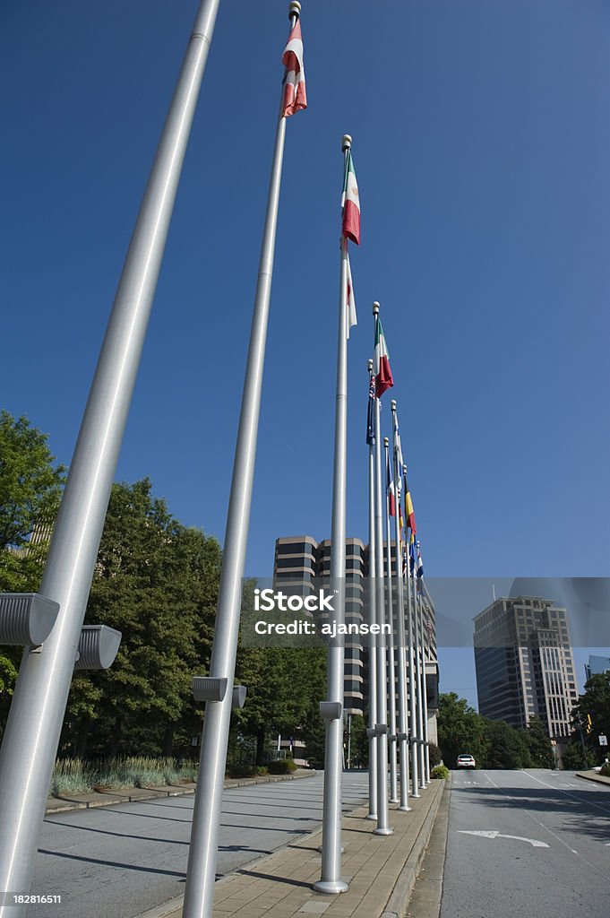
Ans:
[[[61,498],[64,468],[48,436],[0,411],[0,592],[36,592]],[[30,542],[38,529],[38,539]],[[15,688],[21,647],[0,650],[0,736]]]

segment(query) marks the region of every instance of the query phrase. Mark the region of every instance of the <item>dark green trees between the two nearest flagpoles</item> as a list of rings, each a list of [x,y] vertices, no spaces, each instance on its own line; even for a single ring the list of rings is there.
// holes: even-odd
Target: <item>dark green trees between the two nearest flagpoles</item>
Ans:
[[[85,621],[123,639],[109,670],[72,680],[64,753],[171,755],[177,730],[199,731],[192,677],[207,669],[220,560],[148,478],[113,486]]]

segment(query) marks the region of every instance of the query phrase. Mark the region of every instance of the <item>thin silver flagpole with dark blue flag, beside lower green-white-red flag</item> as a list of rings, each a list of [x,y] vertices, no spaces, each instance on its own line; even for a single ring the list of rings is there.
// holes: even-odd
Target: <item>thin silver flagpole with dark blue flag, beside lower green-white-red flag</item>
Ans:
[[[369,388],[374,386],[372,360],[369,361]],[[374,389],[373,389],[374,391]],[[373,437],[369,443],[369,620],[377,621],[375,610],[375,438],[374,415]],[[369,815],[367,819],[377,819],[377,647],[374,639],[369,642]]]

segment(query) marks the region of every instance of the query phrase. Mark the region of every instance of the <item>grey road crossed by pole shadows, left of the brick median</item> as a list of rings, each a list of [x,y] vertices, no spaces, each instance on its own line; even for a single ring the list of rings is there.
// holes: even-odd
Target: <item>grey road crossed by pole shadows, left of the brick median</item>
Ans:
[[[366,799],[366,773],[344,776],[344,810]],[[225,790],[219,875],[311,832],[323,777]],[[45,820],[32,892],[61,893],[36,918],[132,918],[184,891],[193,797],[58,813]]]

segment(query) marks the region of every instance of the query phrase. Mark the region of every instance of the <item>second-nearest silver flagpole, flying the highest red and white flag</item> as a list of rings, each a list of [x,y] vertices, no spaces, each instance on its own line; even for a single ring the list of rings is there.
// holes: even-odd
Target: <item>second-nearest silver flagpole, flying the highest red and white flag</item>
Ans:
[[[299,3],[291,3],[288,7],[291,28],[294,28],[300,9]],[[220,809],[227,764],[228,730],[238,650],[242,577],[250,526],[252,481],[259,432],[262,371],[272,292],[273,254],[285,132],[286,118],[281,110],[275,133],[267,214],[262,233],[261,261],[252,312],[250,345],[241,397],[231,491],[228,498],[227,529],[216,608],[214,643],[210,659],[209,676],[227,678],[227,689],[222,701],[208,703],[205,707],[199,777],[194,799],[193,827],[184,887],[183,918],[211,918],[214,904]]]

